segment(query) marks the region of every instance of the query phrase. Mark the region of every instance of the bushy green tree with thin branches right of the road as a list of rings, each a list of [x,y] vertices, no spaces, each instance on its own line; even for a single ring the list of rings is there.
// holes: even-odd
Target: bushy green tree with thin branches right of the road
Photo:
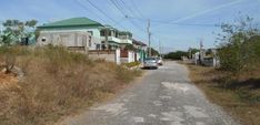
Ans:
[[[252,18],[241,18],[236,24],[223,23],[221,29],[224,34],[219,34],[218,40],[222,70],[239,74],[258,64],[259,30],[253,28]]]

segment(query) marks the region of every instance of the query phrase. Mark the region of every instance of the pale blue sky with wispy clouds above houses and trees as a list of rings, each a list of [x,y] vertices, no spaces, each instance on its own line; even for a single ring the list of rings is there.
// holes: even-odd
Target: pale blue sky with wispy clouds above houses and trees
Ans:
[[[36,19],[39,24],[87,17],[103,24],[128,30],[147,43],[147,19],[151,20],[152,46],[159,41],[164,52],[199,48],[214,48],[219,24],[250,15],[260,22],[260,0],[0,0],[0,21]],[[111,2],[114,1],[128,18]],[[239,14],[241,12],[241,14]],[[111,19],[112,20],[111,20]],[[167,23],[166,23],[167,22]]]

